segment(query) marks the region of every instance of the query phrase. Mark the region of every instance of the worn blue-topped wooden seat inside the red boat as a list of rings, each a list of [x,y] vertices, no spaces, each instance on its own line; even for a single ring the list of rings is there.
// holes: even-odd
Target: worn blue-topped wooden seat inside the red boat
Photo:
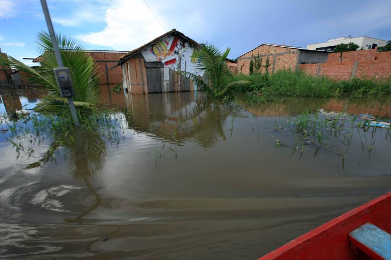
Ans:
[[[350,232],[349,240],[371,259],[391,260],[391,235],[371,223]]]

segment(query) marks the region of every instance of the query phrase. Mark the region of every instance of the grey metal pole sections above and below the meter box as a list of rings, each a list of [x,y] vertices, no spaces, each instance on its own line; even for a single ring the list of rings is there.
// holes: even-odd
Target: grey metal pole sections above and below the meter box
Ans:
[[[50,19],[49,9],[47,8],[46,0],[41,0],[41,5],[43,9],[43,15],[45,16],[47,29],[49,30],[50,39],[52,40],[54,55],[56,56],[58,66],[64,67],[63,59],[61,58],[61,53],[56,40],[56,35],[54,34],[53,24],[52,24],[52,20]],[[70,114],[72,115],[75,124],[79,125],[79,119],[77,117],[77,113],[76,113],[75,105],[73,104],[72,97],[67,97],[67,99],[68,99]]]

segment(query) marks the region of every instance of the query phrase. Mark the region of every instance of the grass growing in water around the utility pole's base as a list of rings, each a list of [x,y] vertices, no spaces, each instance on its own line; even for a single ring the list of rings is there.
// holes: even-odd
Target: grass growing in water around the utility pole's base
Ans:
[[[80,126],[75,126],[68,113],[61,115],[42,115],[31,113],[18,120],[1,116],[1,139],[9,142],[16,149],[17,159],[32,156],[35,148],[49,143],[43,157],[27,168],[44,165],[49,160],[55,161],[55,152],[60,148],[74,149],[78,143],[91,139],[93,143],[119,144],[124,133],[123,118],[118,114],[104,111],[98,114],[80,114]],[[89,145],[93,147],[94,145]],[[106,150],[106,146],[104,148]]]

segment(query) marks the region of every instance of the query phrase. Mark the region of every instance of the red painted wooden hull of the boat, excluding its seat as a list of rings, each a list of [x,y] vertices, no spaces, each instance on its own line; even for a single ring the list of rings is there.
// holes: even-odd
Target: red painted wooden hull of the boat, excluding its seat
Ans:
[[[391,192],[328,221],[259,260],[370,259],[351,245],[348,238],[351,231],[367,222],[391,233]]]

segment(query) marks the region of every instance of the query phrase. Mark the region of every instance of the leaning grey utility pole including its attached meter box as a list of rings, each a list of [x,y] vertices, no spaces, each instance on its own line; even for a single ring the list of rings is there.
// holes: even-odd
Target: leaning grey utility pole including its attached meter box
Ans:
[[[57,80],[57,85],[60,88],[61,96],[66,97],[68,100],[68,105],[70,109],[70,114],[76,125],[79,125],[79,119],[77,117],[75,105],[73,104],[73,88],[72,82],[70,80],[69,69],[64,67],[63,59],[61,58],[60,49],[56,40],[56,35],[54,34],[52,20],[50,19],[49,9],[47,8],[46,0],[41,0],[41,5],[43,9],[43,15],[45,16],[47,29],[49,30],[49,35],[52,40],[54,54],[59,68],[54,68],[54,73]]]

